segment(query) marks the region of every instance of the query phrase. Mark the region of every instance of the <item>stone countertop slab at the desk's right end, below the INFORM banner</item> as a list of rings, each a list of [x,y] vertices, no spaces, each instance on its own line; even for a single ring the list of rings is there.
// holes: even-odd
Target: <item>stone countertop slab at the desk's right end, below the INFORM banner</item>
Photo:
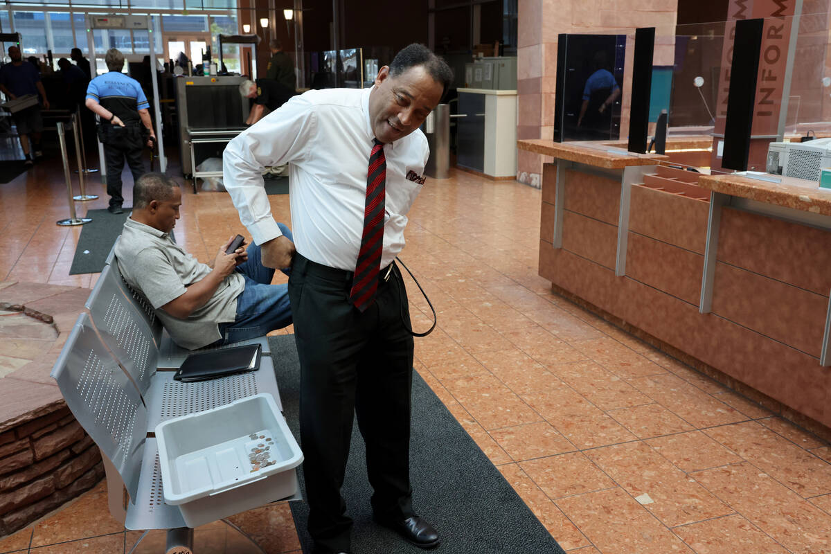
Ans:
[[[820,189],[819,183],[806,179],[770,174],[761,176],[765,179],[781,179],[781,182],[772,183],[738,174],[715,174],[701,175],[698,178],[698,186],[743,199],[831,215],[831,189]]]

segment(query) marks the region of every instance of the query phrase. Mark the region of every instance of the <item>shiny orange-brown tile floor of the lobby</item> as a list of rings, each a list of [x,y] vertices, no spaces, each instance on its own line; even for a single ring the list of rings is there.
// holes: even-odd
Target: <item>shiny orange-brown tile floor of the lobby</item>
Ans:
[[[80,212],[106,206],[104,187],[90,189],[102,198]],[[226,194],[183,191],[177,237],[208,261],[243,229]],[[288,220],[288,196],[269,199]],[[829,444],[553,295],[536,270],[539,203],[515,182],[428,180],[401,257],[439,314],[416,370],[563,549],[831,552]],[[68,213],[61,174],[37,165],[0,185],[0,205],[0,281],[94,284],[68,275],[81,229],[54,223]],[[410,292],[425,329],[429,308]],[[103,491],[0,552],[124,552],[135,533],[109,519]],[[239,518],[268,552],[297,552],[286,507]]]

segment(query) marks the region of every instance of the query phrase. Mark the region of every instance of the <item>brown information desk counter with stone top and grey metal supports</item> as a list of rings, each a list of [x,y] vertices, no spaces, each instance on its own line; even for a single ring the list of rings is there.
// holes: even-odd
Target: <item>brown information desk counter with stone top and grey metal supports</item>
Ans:
[[[829,437],[831,191],[596,144],[518,145],[555,158],[539,249],[555,292]]]

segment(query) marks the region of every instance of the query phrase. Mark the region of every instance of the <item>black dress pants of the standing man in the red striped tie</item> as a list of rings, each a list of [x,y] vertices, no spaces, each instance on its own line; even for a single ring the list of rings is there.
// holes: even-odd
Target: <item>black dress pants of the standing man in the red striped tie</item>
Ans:
[[[376,302],[361,313],[349,302],[352,273],[297,254],[288,279],[300,358],[300,437],[318,548],[350,546],[352,519],[341,496],[352,418],[366,441],[372,509],[410,517],[410,409],[413,337],[401,272],[381,271]]]

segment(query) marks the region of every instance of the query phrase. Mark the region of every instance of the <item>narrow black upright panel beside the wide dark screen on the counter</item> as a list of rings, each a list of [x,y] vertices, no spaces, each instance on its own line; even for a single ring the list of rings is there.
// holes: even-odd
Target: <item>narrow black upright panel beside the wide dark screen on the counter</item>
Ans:
[[[635,29],[635,56],[632,65],[632,104],[629,107],[627,150],[645,154],[649,132],[649,95],[652,91],[652,55],[655,27]]]

